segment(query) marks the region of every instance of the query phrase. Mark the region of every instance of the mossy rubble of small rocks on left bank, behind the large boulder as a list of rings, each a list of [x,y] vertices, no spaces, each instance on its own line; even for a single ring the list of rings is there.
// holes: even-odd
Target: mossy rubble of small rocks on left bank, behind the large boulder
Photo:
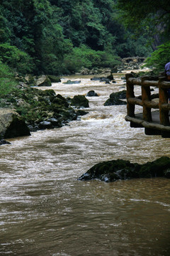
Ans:
[[[56,95],[54,90],[38,90],[25,84],[19,86],[20,90],[1,97],[0,107],[8,106],[16,110],[31,132],[62,127],[67,122],[77,119],[77,112],[71,107],[69,99]],[[86,100],[87,103],[89,104],[88,100]],[[79,99],[79,106],[81,104],[84,103]],[[73,101],[72,106],[74,106]],[[75,106],[77,106],[76,103]]]

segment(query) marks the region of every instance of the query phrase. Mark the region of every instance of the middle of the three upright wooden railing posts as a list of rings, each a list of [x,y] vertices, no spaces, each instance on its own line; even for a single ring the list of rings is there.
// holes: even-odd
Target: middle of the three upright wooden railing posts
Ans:
[[[148,77],[143,77],[142,78],[143,119],[147,122],[152,122],[151,108],[147,107],[147,105],[145,105],[145,101],[150,101],[151,100],[150,87],[144,85],[145,80],[147,80],[147,79],[148,79]]]

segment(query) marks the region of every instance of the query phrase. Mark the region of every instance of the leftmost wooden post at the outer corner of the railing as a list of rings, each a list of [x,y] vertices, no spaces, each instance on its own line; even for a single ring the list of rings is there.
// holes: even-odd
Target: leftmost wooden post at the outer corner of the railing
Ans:
[[[135,97],[134,85],[128,80],[128,78],[133,78],[132,74],[126,74],[126,98],[127,98],[127,113],[130,117],[135,117],[135,105],[128,102],[128,98]]]

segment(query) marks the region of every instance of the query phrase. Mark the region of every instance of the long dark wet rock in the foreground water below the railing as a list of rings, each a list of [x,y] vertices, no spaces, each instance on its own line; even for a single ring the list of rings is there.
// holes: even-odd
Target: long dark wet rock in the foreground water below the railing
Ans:
[[[86,181],[99,179],[105,182],[126,180],[130,178],[170,178],[170,158],[162,156],[161,158],[147,162],[146,164],[132,164],[123,159],[104,161],[94,165],[83,174],[79,180]]]

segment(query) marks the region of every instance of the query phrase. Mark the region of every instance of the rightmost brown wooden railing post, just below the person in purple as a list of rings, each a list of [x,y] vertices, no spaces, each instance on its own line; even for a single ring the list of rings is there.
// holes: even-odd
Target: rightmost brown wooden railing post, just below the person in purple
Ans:
[[[159,119],[160,119],[160,124],[170,125],[169,110],[163,108],[163,105],[168,103],[168,98],[169,98],[167,89],[162,87],[163,81],[164,81],[164,78],[159,78]]]

